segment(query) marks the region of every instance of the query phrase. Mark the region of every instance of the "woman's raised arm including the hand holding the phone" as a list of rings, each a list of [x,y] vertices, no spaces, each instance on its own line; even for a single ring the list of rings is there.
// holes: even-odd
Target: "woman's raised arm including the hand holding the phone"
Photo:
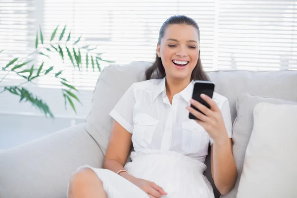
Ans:
[[[206,95],[201,95],[201,98],[210,105],[210,109],[197,100],[190,102],[204,114],[191,106],[188,106],[187,109],[199,119],[196,122],[206,130],[213,140],[211,145],[211,175],[215,186],[224,195],[233,188],[237,178],[237,168],[232,155],[232,141],[228,137],[222,112],[216,102]],[[228,109],[225,110],[230,112],[229,105]]]

